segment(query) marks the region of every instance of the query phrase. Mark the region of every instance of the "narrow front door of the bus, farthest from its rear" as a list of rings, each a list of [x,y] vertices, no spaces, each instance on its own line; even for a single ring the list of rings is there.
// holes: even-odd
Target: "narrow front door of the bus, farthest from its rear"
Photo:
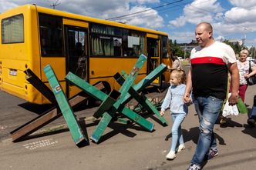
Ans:
[[[160,65],[160,40],[157,35],[149,37],[147,34],[147,75],[158,65]],[[160,85],[160,78],[156,78],[153,84]]]

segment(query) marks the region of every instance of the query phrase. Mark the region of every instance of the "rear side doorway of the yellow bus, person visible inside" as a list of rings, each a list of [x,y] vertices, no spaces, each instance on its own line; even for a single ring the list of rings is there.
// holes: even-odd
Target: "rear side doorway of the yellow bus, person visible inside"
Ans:
[[[88,82],[89,80],[89,58],[87,44],[87,28],[65,25],[65,47],[66,47],[66,74],[72,72]],[[67,96],[71,98],[81,92],[75,85],[66,83]]]

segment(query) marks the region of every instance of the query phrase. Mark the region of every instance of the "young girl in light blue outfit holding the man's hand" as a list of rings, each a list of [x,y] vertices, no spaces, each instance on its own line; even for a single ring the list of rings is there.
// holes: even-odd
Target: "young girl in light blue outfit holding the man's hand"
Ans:
[[[167,154],[167,159],[176,157],[176,151],[180,152],[185,148],[184,139],[181,132],[181,123],[188,112],[188,105],[184,103],[184,92],[186,85],[184,85],[186,74],[183,70],[173,70],[170,73],[170,87],[168,88],[167,95],[163,100],[160,115],[164,115],[164,111],[170,107],[170,114],[173,119],[172,127],[172,145],[170,152]],[[177,142],[179,146],[177,147]]]

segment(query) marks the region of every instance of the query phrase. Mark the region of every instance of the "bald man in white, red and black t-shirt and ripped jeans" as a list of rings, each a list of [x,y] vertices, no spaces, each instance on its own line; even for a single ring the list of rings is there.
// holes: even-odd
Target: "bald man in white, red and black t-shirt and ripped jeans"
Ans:
[[[194,95],[194,106],[200,122],[197,148],[188,170],[201,168],[205,159],[218,154],[214,136],[214,124],[221,112],[227,95],[227,73],[231,73],[231,105],[237,103],[239,74],[233,49],[224,43],[215,42],[213,28],[207,22],[197,25],[195,35],[199,46],[190,54],[190,70],[184,102],[190,92]]]

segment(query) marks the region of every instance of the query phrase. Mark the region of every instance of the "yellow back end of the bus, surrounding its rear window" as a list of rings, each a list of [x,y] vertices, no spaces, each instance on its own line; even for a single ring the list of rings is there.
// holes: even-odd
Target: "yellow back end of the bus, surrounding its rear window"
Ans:
[[[19,98],[24,98],[29,102],[34,102],[34,98],[29,94],[28,89],[30,87],[25,81],[23,71],[26,68],[31,68],[32,70],[34,70],[34,68],[40,68],[36,26],[37,18],[35,16],[35,10],[32,10],[31,6],[25,6],[3,12],[0,15],[0,19],[2,20],[13,15],[23,15],[24,42],[0,44],[3,80],[1,89]],[[16,75],[10,75],[10,71],[16,72]],[[40,76],[40,70],[36,69],[35,74]],[[36,102],[41,103],[40,95],[37,97]]]

